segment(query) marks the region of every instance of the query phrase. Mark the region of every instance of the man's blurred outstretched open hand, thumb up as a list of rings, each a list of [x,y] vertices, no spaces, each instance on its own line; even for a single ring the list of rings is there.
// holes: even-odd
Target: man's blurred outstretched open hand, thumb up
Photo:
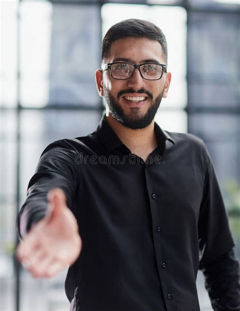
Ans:
[[[51,278],[72,264],[82,249],[75,217],[66,205],[60,188],[48,193],[46,216],[32,226],[16,255],[32,276]]]

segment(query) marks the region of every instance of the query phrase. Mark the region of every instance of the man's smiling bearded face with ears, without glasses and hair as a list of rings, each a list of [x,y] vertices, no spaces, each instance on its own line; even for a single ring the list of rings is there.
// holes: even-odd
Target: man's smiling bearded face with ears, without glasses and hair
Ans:
[[[162,46],[157,41],[126,37],[112,43],[105,63],[166,64],[164,59]],[[145,80],[137,68],[127,80],[113,79],[109,69],[96,71],[98,92],[105,98],[110,114],[131,129],[145,128],[153,121],[162,97],[167,97],[170,81],[171,73],[166,72],[160,80]]]

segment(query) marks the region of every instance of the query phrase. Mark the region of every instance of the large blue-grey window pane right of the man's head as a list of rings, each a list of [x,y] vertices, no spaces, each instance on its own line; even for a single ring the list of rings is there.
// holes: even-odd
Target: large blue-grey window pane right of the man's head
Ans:
[[[238,15],[190,12],[188,22],[189,105],[239,106]]]

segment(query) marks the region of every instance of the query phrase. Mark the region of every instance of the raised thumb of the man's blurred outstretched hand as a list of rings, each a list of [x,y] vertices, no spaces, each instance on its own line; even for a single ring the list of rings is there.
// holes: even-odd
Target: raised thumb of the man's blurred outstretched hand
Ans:
[[[66,207],[66,196],[62,189],[53,188],[48,192],[47,199],[49,204],[46,217],[51,221]]]

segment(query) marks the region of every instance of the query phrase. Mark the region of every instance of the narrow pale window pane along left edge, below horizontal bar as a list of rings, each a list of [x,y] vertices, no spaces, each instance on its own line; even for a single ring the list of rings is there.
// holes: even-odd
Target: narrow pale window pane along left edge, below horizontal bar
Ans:
[[[16,114],[0,113],[0,309],[14,310]]]

